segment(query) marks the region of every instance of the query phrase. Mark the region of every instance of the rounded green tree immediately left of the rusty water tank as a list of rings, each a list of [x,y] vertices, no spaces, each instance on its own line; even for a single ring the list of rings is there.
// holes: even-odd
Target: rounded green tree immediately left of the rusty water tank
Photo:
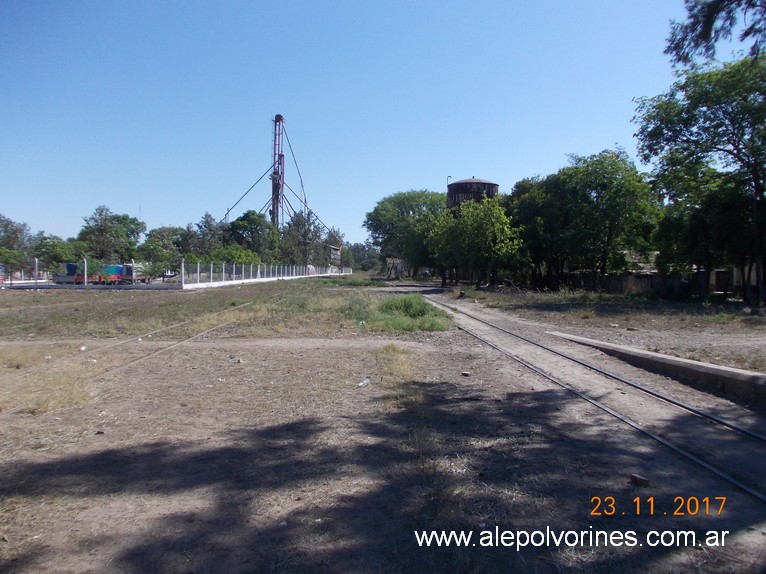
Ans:
[[[364,227],[381,257],[396,257],[407,262],[413,275],[418,268],[431,265],[426,247],[432,216],[446,209],[447,198],[435,191],[402,191],[381,199],[367,213]]]

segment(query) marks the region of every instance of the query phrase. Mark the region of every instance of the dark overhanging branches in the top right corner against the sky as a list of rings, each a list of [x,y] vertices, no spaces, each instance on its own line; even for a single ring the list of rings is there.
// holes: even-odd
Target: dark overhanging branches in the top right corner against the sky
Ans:
[[[684,0],[685,22],[672,22],[668,45],[674,64],[689,64],[696,56],[715,57],[716,44],[731,38],[738,23],[739,39],[751,41],[750,55],[766,46],[766,2],[764,0]]]

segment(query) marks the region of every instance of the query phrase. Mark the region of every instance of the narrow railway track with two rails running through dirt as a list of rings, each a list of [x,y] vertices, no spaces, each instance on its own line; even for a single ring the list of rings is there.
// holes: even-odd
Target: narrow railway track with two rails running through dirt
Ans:
[[[766,503],[766,424],[762,420],[745,425],[722,417],[672,396],[672,391],[658,391],[498,324],[497,319],[424,296],[452,313],[458,327],[482,344]]]

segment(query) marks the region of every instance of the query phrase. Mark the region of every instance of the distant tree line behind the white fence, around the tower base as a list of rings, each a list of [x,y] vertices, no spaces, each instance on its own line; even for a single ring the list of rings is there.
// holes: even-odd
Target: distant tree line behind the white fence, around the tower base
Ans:
[[[153,276],[180,269],[181,260],[196,263],[284,263],[328,266],[333,247],[340,247],[343,234],[326,230],[311,213],[297,212],[281,229],[263,214],[247,211],[231,222],[217,221],[205,213],[199,222],[186,227],[158,227],[146,231],[135,217],[112,213],[99,206],[83,218],[76,237],[63,239],[44,232],[32,234],[26,223],[0,214],[0,263],[10,270],[60,271],[63,263],[88,260],[90,268],[131,260],[145,264]],[[343,245],[340,265],[354,267],[356,258],[371,266],[377,250],[371,245]],[[93,267],[96,266],[96,267]]]

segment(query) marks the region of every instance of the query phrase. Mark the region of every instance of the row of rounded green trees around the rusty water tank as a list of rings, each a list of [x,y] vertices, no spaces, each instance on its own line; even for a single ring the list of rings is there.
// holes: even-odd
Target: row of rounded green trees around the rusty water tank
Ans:
[[[628,253],[647,258],[660,204],[627,154],[607,150],[519,181],[510,195],[452,209],[442,193],[396,193],[364,225],[381,255],[405,261],[413,274],[430,268],[482,284],[503,273],[558,288],[572,271],[606,276],[630,268]]]

